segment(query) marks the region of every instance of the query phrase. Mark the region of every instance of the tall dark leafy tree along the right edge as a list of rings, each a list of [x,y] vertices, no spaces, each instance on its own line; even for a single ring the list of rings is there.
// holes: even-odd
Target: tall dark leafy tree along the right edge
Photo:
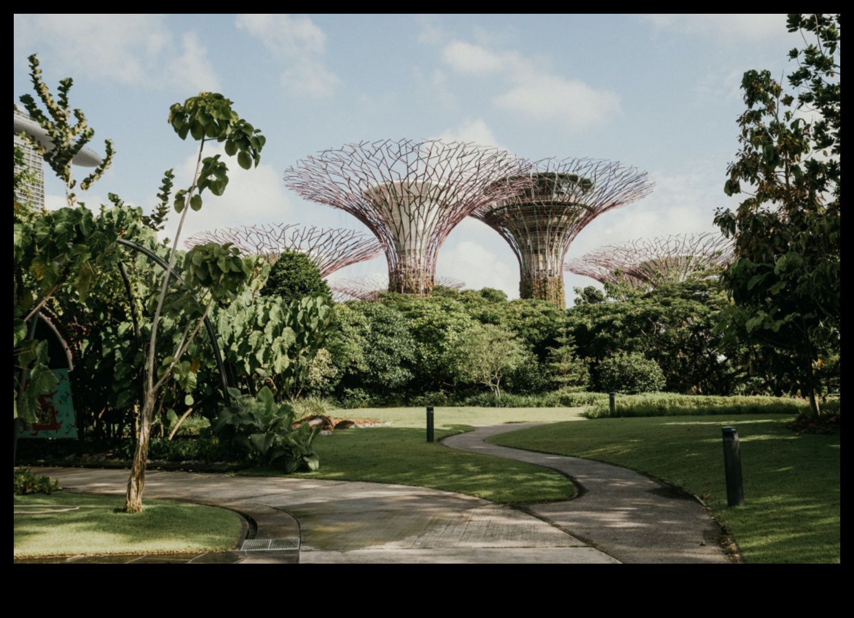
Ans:
[[[769,71],[741,88],[741,146],[724,190],[746,195],[716,223],[734,238],[722,280],[734,301],[722,312],[728,341],[763,344],[818,414],[822,356],[839,349],[841,253],[840,15],[788,15],[804,47],[785,92]]]

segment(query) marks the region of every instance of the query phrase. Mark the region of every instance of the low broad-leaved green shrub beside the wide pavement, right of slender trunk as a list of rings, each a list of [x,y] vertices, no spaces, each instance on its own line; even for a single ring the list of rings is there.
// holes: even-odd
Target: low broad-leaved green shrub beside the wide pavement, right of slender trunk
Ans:
[[[231,406],[223,406],[213,430],[231,438],[231,442],[246,456],[259,464],[284,461],[285,472],[297,469],[316,470],[318,454],[312,449],[317,430],[307,423],[294,427],[294,407],[277,404],[270,388],[261,388],[254,397],[241,397],[237,389],[229,389]]]

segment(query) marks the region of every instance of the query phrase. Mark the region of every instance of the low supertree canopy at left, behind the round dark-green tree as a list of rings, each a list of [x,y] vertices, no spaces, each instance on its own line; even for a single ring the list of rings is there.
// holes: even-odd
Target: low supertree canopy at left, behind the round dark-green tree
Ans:
[[[231,242],[240,253],[264,255],[271,262],[285,250],[299,251],[318,265],[321,277],[383,252],[376,238],[361,232],[284,223],[199,232],[184,241],[184,245],[193,248],[205,242]]]

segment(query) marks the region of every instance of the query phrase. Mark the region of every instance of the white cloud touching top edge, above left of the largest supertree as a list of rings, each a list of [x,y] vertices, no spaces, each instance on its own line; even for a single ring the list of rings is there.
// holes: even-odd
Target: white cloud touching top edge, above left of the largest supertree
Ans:
[[[341,81],[320,60],[325,53],[326,34],[307,17],[292,15],[238,15],[243,28],[284,65],[282,83],[292,92],[329,96]]]

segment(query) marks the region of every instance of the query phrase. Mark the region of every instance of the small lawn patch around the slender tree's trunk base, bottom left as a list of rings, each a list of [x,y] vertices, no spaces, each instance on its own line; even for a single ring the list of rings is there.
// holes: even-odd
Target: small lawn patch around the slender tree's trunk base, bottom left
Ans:
[[[16,513],[16,558],[223,551],[237,543],[241,527],[240,518],[230,510],[167,500],[146,500],[145,510],[137,515],[115,512],[124,505],[124,498],[117,496],[67,492],[15,496],[15,506],[22,504],[79,509]]]

